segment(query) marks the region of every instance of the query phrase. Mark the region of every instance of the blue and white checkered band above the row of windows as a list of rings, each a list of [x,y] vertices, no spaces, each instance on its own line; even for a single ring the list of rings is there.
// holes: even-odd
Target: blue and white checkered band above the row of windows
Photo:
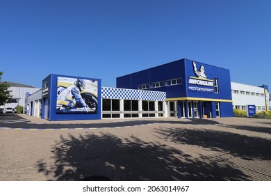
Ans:
[[[101,98],[124,99],[124,100],[165,100],[165,92],[142,91],[128,88],[101,88]]]

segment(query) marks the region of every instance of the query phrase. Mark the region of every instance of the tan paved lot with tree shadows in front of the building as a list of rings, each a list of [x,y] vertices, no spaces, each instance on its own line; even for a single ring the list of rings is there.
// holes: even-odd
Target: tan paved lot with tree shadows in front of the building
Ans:
[[[166,118],[108,127],[63,121],[77,128],[58,128],[59,122],[11,117],[0,118],[0,180],[271,180],[271,120]]]

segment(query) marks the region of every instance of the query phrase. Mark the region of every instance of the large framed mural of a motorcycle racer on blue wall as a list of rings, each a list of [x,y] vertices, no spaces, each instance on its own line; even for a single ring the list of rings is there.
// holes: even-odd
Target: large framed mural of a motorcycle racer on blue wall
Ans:
[[[93,93],[95,90],[97,91],[95,81],[58,77],[56,113],[96,113],[97,96]]]

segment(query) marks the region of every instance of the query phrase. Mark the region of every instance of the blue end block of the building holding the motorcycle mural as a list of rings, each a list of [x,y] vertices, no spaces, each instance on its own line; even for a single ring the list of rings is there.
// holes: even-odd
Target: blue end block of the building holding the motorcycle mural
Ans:
[[[78,89],[79,86],[81,89]],[[85,102],[74,98],[77,97],[76,92],[77,96]],[[41,118],[47,120],[101,119],[101,79],[49,75],[42,81]]]

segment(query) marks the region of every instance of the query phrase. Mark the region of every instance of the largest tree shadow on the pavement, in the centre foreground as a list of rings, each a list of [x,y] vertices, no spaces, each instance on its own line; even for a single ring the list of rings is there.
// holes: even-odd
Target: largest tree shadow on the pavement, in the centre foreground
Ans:
[[[196,136],[193,131],[158,132],[176,142],[188,142],[182,135],[188,139]],[[201,141],[197,139],[195,144]],[[110,180],[248,180],[245,173],[227,162],[222,166],[206,156],[195,158],[162,143],[147,143],[133,136],[120,139],[105,133],[80,137],[69,134],[60,137],[51,152],[53,164],[37,162],[38,171],[48,180],[83,180],[89,176]]]

